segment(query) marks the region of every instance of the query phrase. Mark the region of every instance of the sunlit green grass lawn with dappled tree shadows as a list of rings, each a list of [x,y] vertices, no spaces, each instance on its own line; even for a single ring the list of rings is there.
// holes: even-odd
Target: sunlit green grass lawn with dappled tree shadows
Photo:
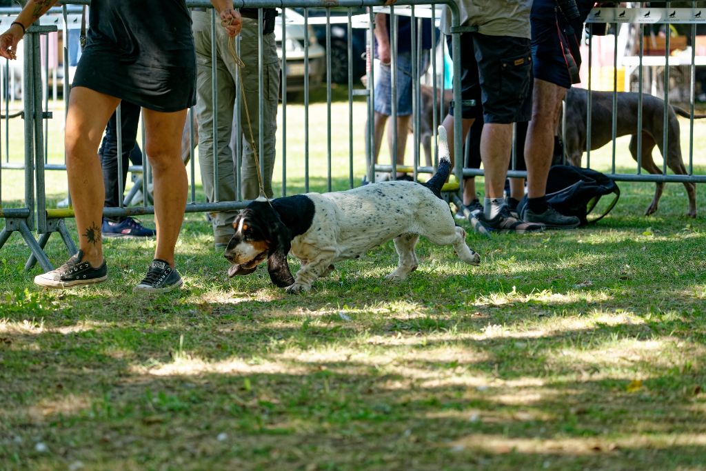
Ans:
[[[311,115],[320,125],[325,106]],[[17,180],[3,172],[4,204]],[[151,241],[108,240],[109,280],[56,292],[32,284],[40,270],[23,270],[14,234],[0,250],[0,469],[703,469],[706,225],[683,216],[679,184],[652,217],[653,184],[620,186],[594,226],[467,227],[477,268],[422,240],[419,270],[385,282],[388,243],[300,296],[262,268],[227,278],[203,215],[187,215],[177,247],[186,287],[156,299],[131,294]],[[56,236],[47,253],[66,258]]]

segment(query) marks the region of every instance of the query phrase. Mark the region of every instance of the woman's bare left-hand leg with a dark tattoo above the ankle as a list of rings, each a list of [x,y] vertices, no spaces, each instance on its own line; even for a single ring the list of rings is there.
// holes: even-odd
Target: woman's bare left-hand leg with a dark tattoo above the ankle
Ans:
[[[105,189],[98,145],[119,103],[116,97],[76,87],[71,89],[66,115],[68,190],[76,216],[78,246],[83,251],[82,261],[88,261],[93,267],[103,263],[101,226]]]

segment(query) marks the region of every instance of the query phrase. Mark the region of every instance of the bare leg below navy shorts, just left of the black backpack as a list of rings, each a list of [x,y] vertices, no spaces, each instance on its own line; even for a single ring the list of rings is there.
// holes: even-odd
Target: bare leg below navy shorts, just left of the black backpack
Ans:
[[[532,93],[532,121],[525,141],[527,197],[539,198],[546,193],[546,179],[554,155],[554,130],[566,88],[535,78]]]

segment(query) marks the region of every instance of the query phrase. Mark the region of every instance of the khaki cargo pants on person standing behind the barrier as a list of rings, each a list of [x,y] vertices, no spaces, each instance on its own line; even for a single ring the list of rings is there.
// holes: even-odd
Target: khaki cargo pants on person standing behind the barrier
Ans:
[[[242,198],[244,200],[257,198],[260,194],[256,173],[256,162],[245,105],[247,104],[250,126],[252,126],[254,145],[259,146],[259,105],[258,98],[263,100],[263,149],[264,168],[262,169],[265,193],[268,198],[273,196],[272,175],[275,165],[275,133],[277,131],[277,102],[280,93],[280,59],[277,57],[275,34],[263,36],[263,90],[258,88],[258,21],[243,18],[243,29],[240,32],[240,57],[245,63],[241,71],[243,76],[244,95],[241,95],[241,129],[240,136],[235,136],[234,109],[239,80],[236,75],[237,66],[228,49],[229,38],[225,29],[216,20],[216,63],[215,81],[217,89],[217,150],[214,159],[213,117],[214,99],[211,78],[213,76],[213,61],[211,57],[211,23],[210,11],[192,13],[193,38],[196,46],[196,119],[198,121],[198,161],[201,167],[201,181],[208,201],[216,201],[213,178],[214,161],[218,166],[218,201],[237,201],[236,194],[236,139],[240,138],[243,155],[241,160]],[[238,85],[238,88],[236,86]],[[258,162],[259,165],[259,162]],[[212,213],[214,232],[232,232],[229,226],[238,211]],[[227,227],[227,228],[226,228]]]

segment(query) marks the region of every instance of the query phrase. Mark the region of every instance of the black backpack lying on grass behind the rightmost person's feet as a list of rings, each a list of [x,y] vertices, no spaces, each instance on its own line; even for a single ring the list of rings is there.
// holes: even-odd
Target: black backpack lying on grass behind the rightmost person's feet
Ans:
[[[592,215],[589,220],[601,196],[611,193],[615,195],[613,201],[602,210],[602,214],[597,217]],[[602,219],[618,203],[619,197],[620,189],[616,182],[601,172],[571,165],[553,165],[549,169],[546,202],[563,215],[578,217],[581,225]],[[517,213],[522,214],[526,204],[527,195],[517,205]]]

